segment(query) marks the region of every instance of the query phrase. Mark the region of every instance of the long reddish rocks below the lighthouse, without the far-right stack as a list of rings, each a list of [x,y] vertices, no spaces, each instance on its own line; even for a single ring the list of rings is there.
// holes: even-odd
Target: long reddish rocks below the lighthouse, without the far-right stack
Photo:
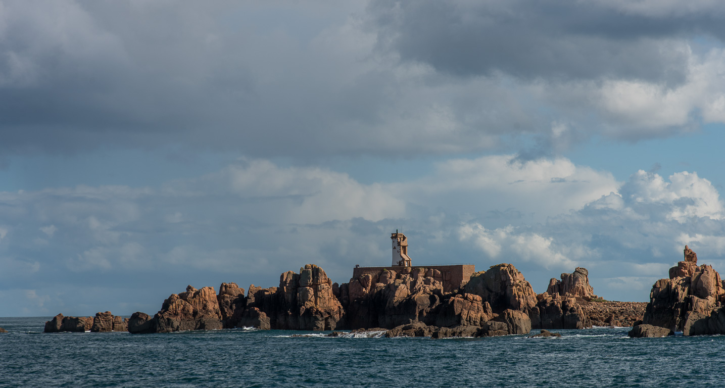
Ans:
[[[246,294],[246,295],[245,295]],[[536,294],[513,265],[473,273],[459,289],[444,292],[442,273],[432,268],[384,269],[336,284],[317,265],[280,276],[278,287],[245,290],[223,283],[171,294],[158,313],[121,318],[57,315],[45,331],[129,331],[133,334],[186,330],[283,329],[385,331],[385,337],[492,337],[529,334],[531,329],[631,326],[646,303],[608,302],[594,294],[588,271],[576,268],[552,278]]]

